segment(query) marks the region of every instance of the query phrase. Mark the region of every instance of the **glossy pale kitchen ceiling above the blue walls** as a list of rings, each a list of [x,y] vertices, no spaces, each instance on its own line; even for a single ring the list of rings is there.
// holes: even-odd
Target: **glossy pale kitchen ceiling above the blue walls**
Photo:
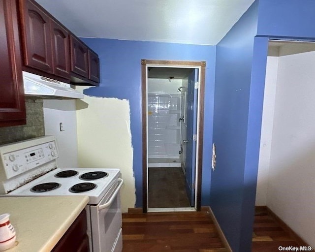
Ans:
[[[216,45],[254,0],[36,0],[79,37]]]

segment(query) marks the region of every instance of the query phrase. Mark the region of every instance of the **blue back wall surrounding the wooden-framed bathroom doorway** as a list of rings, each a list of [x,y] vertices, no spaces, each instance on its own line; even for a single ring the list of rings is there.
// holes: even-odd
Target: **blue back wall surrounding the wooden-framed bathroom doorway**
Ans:
[[[117,97],[130,103],[133,146],[133,171],[136,183],[136,207],[142,206],[142,112],[141,59],[206,61],[205,116],[203,143],[202,205],[209,205],[211,148],[213,132],[215,46],[82,38],[100,59],[100,87],[86,95]],[[104,108],[104,110],[110,108]]]

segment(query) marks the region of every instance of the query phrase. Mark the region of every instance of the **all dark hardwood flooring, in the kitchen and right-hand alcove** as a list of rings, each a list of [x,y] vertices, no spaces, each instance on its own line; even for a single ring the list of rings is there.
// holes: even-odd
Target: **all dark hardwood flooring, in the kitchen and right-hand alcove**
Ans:
[[[304,246],[266,211],[256,211],[252,252]],[[123,252],[228,252],[208,212],[123,214]]]

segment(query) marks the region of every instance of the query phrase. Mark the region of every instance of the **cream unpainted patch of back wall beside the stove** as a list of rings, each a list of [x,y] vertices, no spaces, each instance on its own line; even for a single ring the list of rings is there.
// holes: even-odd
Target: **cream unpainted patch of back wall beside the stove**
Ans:
[[[127,100],[85,96],[77,101],[79,167],[119,168],[122,211],[135,205],[133,149]]]

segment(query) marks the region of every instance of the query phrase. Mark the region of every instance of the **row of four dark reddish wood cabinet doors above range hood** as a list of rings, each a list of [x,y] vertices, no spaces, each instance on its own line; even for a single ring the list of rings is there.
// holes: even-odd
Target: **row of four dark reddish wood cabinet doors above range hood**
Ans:
[[[18,0],[24,68],[74,85],[98,85],[99,59],[34,0]],[[70,40],[70,42],[69,42]],[[50,77],[50,76],[47,76]]]

